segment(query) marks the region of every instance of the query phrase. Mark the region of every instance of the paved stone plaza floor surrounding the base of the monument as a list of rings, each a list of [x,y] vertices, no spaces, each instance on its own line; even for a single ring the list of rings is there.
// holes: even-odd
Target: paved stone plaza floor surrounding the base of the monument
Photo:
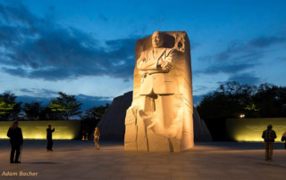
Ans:
[[[286,150],[275,143],[273,161],[264,143],[196,143],[181,153],[124,151],[123,143],[25,141],[21,164],[10,164],[10,144],[0,141],[0,179],[285,179]],[[23,176],[23,174],[34,176]],[[21,176],[20,176],[21,174]],[[15,175],[15,174],[14,174]],[[36,176],[37,175],[37,176]]]

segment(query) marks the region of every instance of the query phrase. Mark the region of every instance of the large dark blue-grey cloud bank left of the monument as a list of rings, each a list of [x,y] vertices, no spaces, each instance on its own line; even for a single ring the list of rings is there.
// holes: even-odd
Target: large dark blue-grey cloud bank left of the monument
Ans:
[[[23,6],[0,4],[0,65],[13,76],[50,81],[83,76],[129,80],[139,37],[100,44],[91,35],[38,18]]]

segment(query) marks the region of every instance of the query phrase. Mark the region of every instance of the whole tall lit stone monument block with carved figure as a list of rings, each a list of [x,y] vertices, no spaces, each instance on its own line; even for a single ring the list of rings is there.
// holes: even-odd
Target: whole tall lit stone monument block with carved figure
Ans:
[[[194,146],[189,38],[156,31],[135,47],[133,101],[125,150],[185,151]]]

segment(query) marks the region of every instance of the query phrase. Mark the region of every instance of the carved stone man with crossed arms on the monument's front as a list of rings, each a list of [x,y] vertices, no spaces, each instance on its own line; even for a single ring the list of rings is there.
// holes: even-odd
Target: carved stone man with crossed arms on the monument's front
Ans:
[[[151,131],[152,139],[156,135],[163,135],[172,143],[174,139],[180,140],[182,127],[182,118],[177,117],[178,111],[175,111],[178,110],[175,97],[178,85],[176,76],[172,74],[177,51],[163,45],[164,34],[156,31],[152,36],[153,48],[143,51],[137,61],[141,75],[139,94],[142,102],[139,119],[144,122],[146,135]]]

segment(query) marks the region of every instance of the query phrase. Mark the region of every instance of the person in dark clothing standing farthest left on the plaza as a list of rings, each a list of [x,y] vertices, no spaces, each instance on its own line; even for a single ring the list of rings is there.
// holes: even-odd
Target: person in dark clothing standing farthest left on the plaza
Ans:
[[[12,126],[9,128],[7,136],[10,137],[11,143],[11,155],[10,163],[21,163],[19,160],[21,144],[23,143],[23,135],[21,134],[21,128],[18,127],[18,120],[14,120]],[[16,151],[16,156],[15,155]]]

